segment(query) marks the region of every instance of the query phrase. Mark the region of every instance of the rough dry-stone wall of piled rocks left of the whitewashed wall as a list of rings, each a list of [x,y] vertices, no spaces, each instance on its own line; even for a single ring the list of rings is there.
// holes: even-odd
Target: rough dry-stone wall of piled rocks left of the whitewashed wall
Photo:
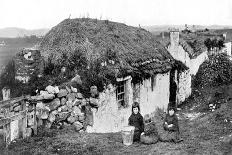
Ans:
[[[84,98],[73,86],[65,86],[62,89],[47,86],[38,96],[32,96],[33,100],[38,99],[36,105],[38,126],[57,129],[73,126],[76,131],[86,130],[88,125],[93,125],[91,108],[98,107],[98,99],[95,98],[98,97],[96,86],[91,87],[90,94],[90,98]],[[17,107],[15,110],[18,110]]]

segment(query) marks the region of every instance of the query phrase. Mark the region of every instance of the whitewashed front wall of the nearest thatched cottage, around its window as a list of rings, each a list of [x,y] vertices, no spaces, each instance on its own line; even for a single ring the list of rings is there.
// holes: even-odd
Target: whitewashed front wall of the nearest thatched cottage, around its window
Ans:
[[[154,89],[151,89],[151,78],[133,86],[131,78],[126,82],[127,108],[119,109],[116,101],[116,88],[108,87],[100,93],[99,108],[93,109],[93,126],[87,127],[87,132],[107,133],[119,132],[122,127],[128,125],[128,118],[131,115],[133,100],[140,103],[141,114],[151,114],[156,107],[167,109],[169,102],[169,76],[170,73],[157,74],[154,80]],[[135,91],[137,88],[137,91]],[[136,92],[136,93],[135,93]],[[133,95],[135,95],[133,97]]]

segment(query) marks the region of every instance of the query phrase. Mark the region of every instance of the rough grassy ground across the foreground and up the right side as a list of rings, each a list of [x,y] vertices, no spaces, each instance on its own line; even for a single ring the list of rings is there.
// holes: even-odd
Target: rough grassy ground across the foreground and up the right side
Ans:
[[[200,97],[200,96],[199,96]],[[231,103],[232,104],[232,103]],[[192,106],[199,107],[192,104]],[[191,110],[189,110],[191,109]],[[197,109],[197,110],[196,110]],[[215,112],[199,112],[199,108],[184,108],[178,112],[183,142],[152,145],[140,143],[124,146],[120,133],[77,133],[72,128],[40,130],[37,136],[12,143],[0,154],[72,155],[72,154],[165,154],[222,155],[232,154],[232,123],[218,119]]]

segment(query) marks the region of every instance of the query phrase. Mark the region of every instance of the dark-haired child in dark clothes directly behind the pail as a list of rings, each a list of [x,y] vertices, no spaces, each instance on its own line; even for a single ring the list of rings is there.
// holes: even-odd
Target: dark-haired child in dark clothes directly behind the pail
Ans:
[[[135,127],[133,141],[140,141],[140,135],[144,132],[143,116],[140,114],[138,102],[132,104],[132,114],[129,117],[129,125]]]

